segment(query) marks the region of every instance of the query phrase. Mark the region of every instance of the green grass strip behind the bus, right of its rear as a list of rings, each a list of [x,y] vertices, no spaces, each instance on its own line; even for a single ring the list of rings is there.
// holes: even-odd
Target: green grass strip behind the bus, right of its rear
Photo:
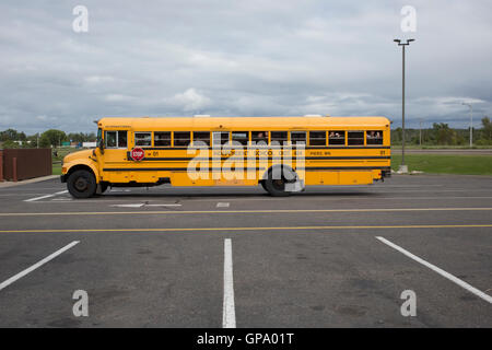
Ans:
[[[408,170],[429,174],[492,175],[490,155],[406,154]],[[391,168],[398,170],[401,154],[391,155]]]

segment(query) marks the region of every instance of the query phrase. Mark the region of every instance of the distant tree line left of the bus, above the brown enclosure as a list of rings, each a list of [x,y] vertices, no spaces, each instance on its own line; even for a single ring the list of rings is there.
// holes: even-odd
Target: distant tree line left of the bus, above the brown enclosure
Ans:
[[[57,148],[61,147],[63,142],[91,142],[95,141],[94,132],[70,132],[57,129],[49,129],[42,133],[26,136],[24,132],[19,132],[14,129],[7,129],[0,131],[0,143],[3,149],[19,149],[19,148]]]

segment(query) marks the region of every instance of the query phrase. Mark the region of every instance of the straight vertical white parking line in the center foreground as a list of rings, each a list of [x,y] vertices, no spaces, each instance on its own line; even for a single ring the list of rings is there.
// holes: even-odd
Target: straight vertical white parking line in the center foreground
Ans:
[[[222,312],[222,327],[236,328],[231,238],[224,241],[224,304]]]

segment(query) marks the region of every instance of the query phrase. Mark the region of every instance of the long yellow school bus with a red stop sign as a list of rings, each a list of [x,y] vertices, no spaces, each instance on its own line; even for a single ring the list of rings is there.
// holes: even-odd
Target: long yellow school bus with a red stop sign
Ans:
[[[97,148],[63,159],[75,198],[108,187],[258,186],[288,196],[309,185],[390,176],[385,117],[102,118]]]

